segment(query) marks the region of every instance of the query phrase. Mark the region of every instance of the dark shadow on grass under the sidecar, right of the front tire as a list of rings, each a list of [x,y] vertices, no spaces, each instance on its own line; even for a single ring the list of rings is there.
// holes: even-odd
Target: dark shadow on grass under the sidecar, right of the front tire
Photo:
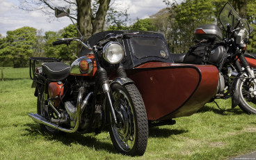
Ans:
[[[165,128],[158,128],[158,127],[152,127],[149,131],[149,137],[151,138],[168,138],[173,135],[179,135],[184,134],[188,132],[184,129],[165,129]]]

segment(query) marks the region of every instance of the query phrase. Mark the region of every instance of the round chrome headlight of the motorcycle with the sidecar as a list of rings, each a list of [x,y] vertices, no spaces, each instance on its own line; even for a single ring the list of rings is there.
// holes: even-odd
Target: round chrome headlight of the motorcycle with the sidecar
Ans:
[[[120,43],[109,42],[103,48],[103,56],[107,62],[117,64],[122,61],[122,58],[124,58],[125,51]]]

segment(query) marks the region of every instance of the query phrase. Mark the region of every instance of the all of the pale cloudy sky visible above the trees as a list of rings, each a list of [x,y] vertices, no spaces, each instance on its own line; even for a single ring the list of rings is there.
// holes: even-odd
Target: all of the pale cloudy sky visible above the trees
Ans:
[[[163,0],[115,0],[121,10],[128,8],[129,18],[144,19],[154,15],[162,8],[166,8]],[[6,36],[6,31],[13,31],[23,26],[31,26],[45,31],[59,31],[72,24],[68,17],[49,22],[49,16],[40,10],[24,11],[18,8],[19,0],[0,0],[0,34]]]

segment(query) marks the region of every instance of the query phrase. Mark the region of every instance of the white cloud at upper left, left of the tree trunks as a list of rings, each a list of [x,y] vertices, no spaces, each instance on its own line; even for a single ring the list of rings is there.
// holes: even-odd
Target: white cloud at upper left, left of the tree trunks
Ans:
[[[48,15],[44,15],[40,10],[26,12],[17,7],[17,1],[1,0],[0,5],[0,33],[6,36],[7,31],[31,26],[43,31],[59,31],[72,22],[68,17],[63,17],[59,21],[48,22]]]

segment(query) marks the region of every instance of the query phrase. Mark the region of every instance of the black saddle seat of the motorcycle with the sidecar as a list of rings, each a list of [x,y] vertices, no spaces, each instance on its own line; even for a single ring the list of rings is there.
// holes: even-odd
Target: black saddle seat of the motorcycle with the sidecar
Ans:
[[[42,72],[51,81],[61,81],[70,74],[70,65],[61,62],[42,63]]]

